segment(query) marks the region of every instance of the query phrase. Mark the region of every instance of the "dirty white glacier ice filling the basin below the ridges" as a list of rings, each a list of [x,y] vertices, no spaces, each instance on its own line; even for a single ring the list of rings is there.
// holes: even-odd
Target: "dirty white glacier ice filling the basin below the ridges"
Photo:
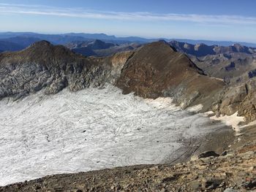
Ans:
[[[123,95],[110,85],[3,99],[0,110],[0,185],[171,161],[181,153],[182,139],[217,126],[175,107],[170,99]]]

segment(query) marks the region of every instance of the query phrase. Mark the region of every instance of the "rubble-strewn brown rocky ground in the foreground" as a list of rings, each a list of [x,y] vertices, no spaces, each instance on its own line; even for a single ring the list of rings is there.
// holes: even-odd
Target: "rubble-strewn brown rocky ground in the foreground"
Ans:
[[[190,161],[125,166],[77,174],[57,174],[0,188],[7,191],[255,191],[255,127],[219,156],[201,153]],[[203,154],[203,155],[202,155]]]

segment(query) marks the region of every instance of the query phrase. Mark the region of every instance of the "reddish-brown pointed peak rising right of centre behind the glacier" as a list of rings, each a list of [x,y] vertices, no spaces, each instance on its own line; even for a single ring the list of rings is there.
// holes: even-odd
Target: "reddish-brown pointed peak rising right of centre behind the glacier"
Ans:
[[[144,98],[172,96],[183,107],[211,98],[225,85],[203,71],[170,45],[154,42],[142,47],[127,61],[116,84],[124,93]]]

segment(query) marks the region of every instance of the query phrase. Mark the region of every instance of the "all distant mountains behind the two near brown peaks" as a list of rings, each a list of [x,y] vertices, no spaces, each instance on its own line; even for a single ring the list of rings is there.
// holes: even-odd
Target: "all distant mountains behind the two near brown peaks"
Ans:
[[[190,39],[144,39],[140,37],[115,37],[106,34],[34,34],[0,33],[0,53],[18,51],[48,40],[53,45],[64,45],[84,56],[105,57],[114,53],[135,50],[151,41],[162,41],[189,58],[211,77],[218,77],[227,83],[244,82],[256,76],[256,45],[248,47],[235,42],[197,42]],[[207,45],[214,44],[214,45]],[[219,45],[218,45],[219,44]],[[227,45],[228,46],[223,46]],[[252,44],[250,44],[252,45]]]

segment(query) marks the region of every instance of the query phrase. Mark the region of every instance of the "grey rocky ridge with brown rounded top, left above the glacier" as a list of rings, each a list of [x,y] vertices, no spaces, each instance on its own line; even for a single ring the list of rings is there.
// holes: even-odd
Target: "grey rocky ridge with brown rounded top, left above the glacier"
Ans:
[[[2,53],[0,69],[0,98],[26,96],[42,88],[46,88],[45,93],[57,93],[66,87],[78,91],[110,82],[114,75],[110,74],[110,61],[85,58],[46,41],[20,52]]]

